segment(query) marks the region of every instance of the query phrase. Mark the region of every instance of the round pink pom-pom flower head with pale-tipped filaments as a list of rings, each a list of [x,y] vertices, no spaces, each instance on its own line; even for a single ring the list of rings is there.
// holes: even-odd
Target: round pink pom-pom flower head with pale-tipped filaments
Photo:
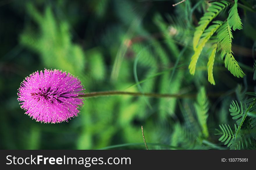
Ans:
[[[83,90],[81,81],[72,74],[45,69],[26,77],[17,94],[25,114],[38,122],[61,123],[78,116]]]

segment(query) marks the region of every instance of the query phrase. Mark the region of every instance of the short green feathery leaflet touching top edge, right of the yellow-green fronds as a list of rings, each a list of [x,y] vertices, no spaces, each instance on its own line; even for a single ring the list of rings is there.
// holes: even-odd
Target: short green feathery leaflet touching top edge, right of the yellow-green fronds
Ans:
[[[243,26],[242,26],[243,24],[237,12],[237,1],[238,0],[234,0],[234,5],[232,6],[232,8],[230,8],[229,15],[227,18],[227,21],[230,24],[230,28],[233,28],[234,31],[236,29],[238,30],[243,29]]]

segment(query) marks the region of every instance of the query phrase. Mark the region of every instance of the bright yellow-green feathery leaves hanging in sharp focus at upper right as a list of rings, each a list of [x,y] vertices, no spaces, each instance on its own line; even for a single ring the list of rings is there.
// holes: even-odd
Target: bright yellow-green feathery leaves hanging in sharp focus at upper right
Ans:
[[[208,12],[206,12],[204,16],[201,17],[198,23],[199,26],[196,28],[194,38],[193,38],[193,48],[195,53],[191,57],[191,63],[189,65],[189,70],[192,75],[195,74],[196,63],[198,61],[199,55],[202,52],[202,49],[205,47],[205,44],[207,43],[207,41],[209,41],[210,37],[213,35],[211,34],[209,39],[204,38],[204,35],[207,34],[207,31],[208,31],[206,29],[208,24],[227,6],[228,6],[228,3],[226,1],[211,3],[211,6],[209,6],[208,8]],[[217,21],[217,22],[221,22],[221,21]],[[215,25],[216,21],[213,21],[212,23],[213,25]],[[210,25],[208,29],[211,27],[212,25]],[[232,52],[233,35],[231,31],[232,28],[233,30],[242,29],[242,22],[237,12],[237,0],[234,2],[234,5],[232,6],[232,8],[229,10],[229,16],[227,18],[227,21],[222,23],[220,27],[218,27],[215,30],[217,32],[218,42],[214,44],[213,50],[211,51],[211,54],[209,57],[209,62],[207,64],[208,81],[213,85],[215,85],[215,81],[213,78],[212,71],[213,71],[216,51],[221,50],[221,59],[223,59],[224,56],[226,56],[224,61],[225,67],[231,72],[231,74],[233,74],[238,78],[239,77],[243,78],[245,76],[243,70],[240,68],[238,62],[236,61],[236,59],[232,54],[233,53]],[[220,45],[218,45],[218,43]]]

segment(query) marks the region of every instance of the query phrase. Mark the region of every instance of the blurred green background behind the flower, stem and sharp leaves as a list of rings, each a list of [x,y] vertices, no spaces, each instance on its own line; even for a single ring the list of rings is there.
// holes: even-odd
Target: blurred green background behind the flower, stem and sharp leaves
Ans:
[[[247,76],[235,78],[218,57],[213,86],[207,79],[207,57],[205,63],[198,63],[195,76],[188,70],[193,54],[191,38],[207,3],[187,0],[173,7],[176,2],[0,1],[0,149],[100,149],[143,144],[141,125],[148,143],[180,146],[183,126],[200,129],[193,108],[195,98],[189,97],[88,98],[81,114],[69,122],[35,122],[20,109],[17,89],[26,76],[44,68],[78,76],[86,92],[197,94],[205,86],[208,94],[216,94],[209,95],[207,124],[209,141],[218,144],[214,129],[220,123],[232,123],[228,113],[231,100],[244,89],[254,90],[256,17],[241,12],[244,30],[234,33],[233,51]],[[209,146],[202,141],[193,146],[205,148]],[[149,149],[168,147],[149,145]]]

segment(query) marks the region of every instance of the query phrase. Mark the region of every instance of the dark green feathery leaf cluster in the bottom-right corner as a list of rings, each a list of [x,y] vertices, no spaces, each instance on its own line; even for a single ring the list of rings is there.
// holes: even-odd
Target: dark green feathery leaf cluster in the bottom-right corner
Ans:
[[[254,97],[245,101],[246,106],[244,108],[242,104],[244,101],[240,101],[240,106],[238,102],[234,100],[230,104],[230,115],[232,119],[237,120],[237,125],[234,125],[235,133],[233,133],[229,125],[219,125],[221,130],[216,129],[218,132],[216,135],[221,135],[219,141],[223,142],[227,147],[230,147],[230,149],[252,149],[255,147],[255,115],[250,112],[254,111],[256,108],[256,94],[253,92],[246,94],[253,95]],[[248,118],[247,115],[250,117]],[[248,123],[243,125],[244,122]]]

